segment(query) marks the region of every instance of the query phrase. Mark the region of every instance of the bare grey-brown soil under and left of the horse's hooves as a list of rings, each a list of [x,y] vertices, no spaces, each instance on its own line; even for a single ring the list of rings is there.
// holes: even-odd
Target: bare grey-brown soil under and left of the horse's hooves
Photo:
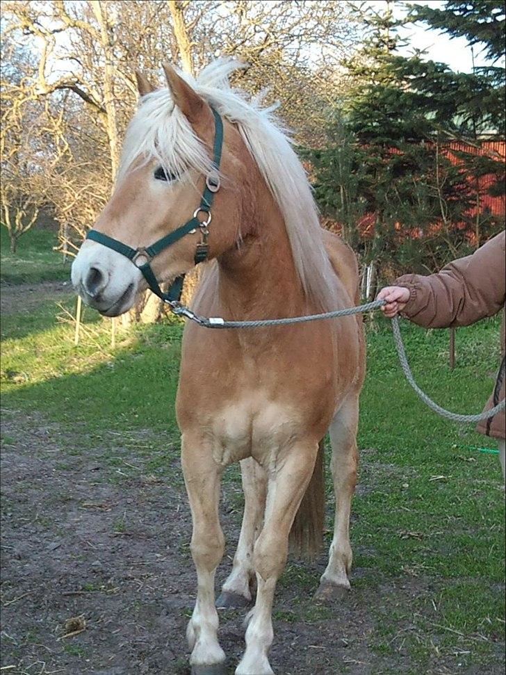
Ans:
[[[180,487],[149,476],[111,484],[100,449],[76,453],[79,439],[74,444],[37,414],[26,418],[4,411],[3,434],[3,672],[188,673],[184,635],[196,587],[190,514]],[[225,497],[227,555],[218,583],[229,572],[238,536],[233,511]],[[322,555],[317,569],[307,566],[315,587],[324,565]],[[415,580],[400,588],[379,583],[375,598],[364,601],[352,592],[325,612],[314,605],[311,616],[300,612],[310,592],[281,584],[272,667],[279,675],[418,672],[402,650],[395,662],[370,650],[369,607],[395,594],[409,605],[423,592]],[[220,643],[230,674],[244,648],[244,615],[220,613]]]

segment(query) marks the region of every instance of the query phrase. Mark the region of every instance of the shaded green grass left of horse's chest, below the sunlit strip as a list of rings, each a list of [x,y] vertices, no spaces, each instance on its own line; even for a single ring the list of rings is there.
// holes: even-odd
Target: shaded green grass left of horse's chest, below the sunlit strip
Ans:
[[[36,409],[51,421],[83,432],[150,428],[177,433],[174,400],[180,333],[180,327],[162,331],[159,326],[143,327],[136,343],[117,348],[111,355],[104,350],[106,361],[85,372],[11,386],[3,393],[2,405]],[[60,358],[75,359],[76,355],[79,351],[69,344]]]

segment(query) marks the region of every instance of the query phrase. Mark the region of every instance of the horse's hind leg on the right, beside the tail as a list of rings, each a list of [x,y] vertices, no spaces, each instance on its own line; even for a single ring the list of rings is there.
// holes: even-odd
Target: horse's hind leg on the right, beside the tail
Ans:
[[[329,564],[316,592],[318,599],[340,598],[350,590],[352,548],[350,545],[350,510],[357,482],[357,425],[359,397],[350,394],[336,412],[329,428],[332,445],[332,478],[336,496],[334,537]]]

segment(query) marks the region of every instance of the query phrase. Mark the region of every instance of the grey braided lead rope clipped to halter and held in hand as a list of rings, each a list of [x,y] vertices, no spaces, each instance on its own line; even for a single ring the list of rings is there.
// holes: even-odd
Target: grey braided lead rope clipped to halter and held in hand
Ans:
[[[204,328],[260,328],[266,326],[283,326],[283,325],[291,325],[294,323],[306,323],[308,321],[318,321],[322,319],[336,318],[338,316],[351,316],[352,314],[362,314],[366,311],[373,311],[374,309],[379,309],[386,303],[384,300],[374,300],[373,302],[366,302],[366,304],[359,304],[357,307],[347,307],[346,309],[336,309],[334,311],[326,311],[324,314],[309,314],[308,316],[293,316],[282,319],[261,319],[254,321],[225,321],[225,319],[215,316],[207,318],[205,316],[199,316],[198,314],[195,314],[195,312],[191,311],[191,309],[188,309],[188,307],[184,307],[184,305],[180,304],[179,302],[168,302],[168,304],[170,305],[170,308],[172,309],[174,314],[176,314],[177,316],[184,316],[185,318],[194,321],[199,326],[202,326]],[[413,387],[414,391],[416,391],[418,397],[421,398],[421,400],[423,400],[425,405],[430,407],[430,409],[432,409],[437,414],[441,415],[441,417],[449,419],[453,422],[464,422],[464,423],[481,422],[483,420],[493,417],[498,412],[505,409],[506,400],[504,398],[502,401],[498,403],[498,405],[478,415],[461,415],[456,412],[450,412],[450,410],[446,410],[442,408],[440,405],[437,405],[437,403],[435,403],[431,398],[429,398],[427,394],[424,391],[422,391],[420,387],[418,387],[418,384],[416,384],[414,380],[413,373],[411,373],[411,368],[409,368],[409,364],[407,362],[406,350],[404,347],[404,343],[402,342],[398,318],[395,316],[393,319],[391,319],[391,323],[392,323],[393,341],[395,343],[395,349],[397,350],[402,372],[405,374],[405,377],[409,382],[409,384],[411,384],[411,387]],[[505,359],[503,358],[503,362],[501,363],[500,366],[500,372],[503,372],[504,370],[505,370]]]

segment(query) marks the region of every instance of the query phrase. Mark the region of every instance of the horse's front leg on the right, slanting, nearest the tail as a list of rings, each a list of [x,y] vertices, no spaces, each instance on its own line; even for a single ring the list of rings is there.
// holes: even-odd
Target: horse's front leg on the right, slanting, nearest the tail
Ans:
[[[268,473],[265,522],[256,539],[253,564],[256,603],[248,617],[246,649],[236,675],[272,675],[268,650],[272,631],[272,601],[288,556],[288,535],[313,473],[318,443],[299,443],[286,457],[272,462]]]

